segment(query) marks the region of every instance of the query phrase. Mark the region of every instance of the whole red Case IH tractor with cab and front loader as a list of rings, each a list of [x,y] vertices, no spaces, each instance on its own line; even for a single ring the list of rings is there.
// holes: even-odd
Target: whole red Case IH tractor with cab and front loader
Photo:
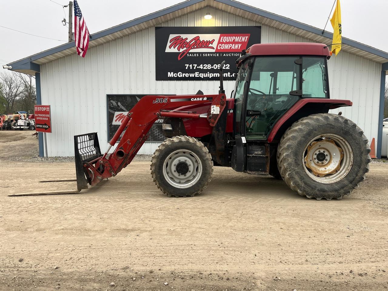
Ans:
[[[74,137],[78,191],[116,176],[134,158],[154,121],[168,137],[155,151],[151,175],[168,196],[194,196],[211,180],[213,165],[282,178],[308,198],[340,199],[365,179],[370,148],[362,130],[328,113],[352,106],[330,99],[329,49],[320,43],[252,45],[236,60],[230,98],[148,95],[132,108],[101,154],[97,133]]]

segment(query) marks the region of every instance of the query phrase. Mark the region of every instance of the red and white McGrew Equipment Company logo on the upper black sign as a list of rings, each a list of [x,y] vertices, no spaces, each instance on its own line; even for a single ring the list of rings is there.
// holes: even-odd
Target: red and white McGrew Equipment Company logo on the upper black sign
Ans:
[[[249,33],[170,35],[165,52],[180,52],[178,60],[193,52],[241,52],[246,49]],[[217,40],[217,41],[216,41]]]

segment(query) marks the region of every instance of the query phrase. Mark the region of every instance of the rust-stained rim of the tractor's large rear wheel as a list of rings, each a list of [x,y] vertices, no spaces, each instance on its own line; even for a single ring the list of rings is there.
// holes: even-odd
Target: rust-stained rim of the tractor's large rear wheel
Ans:
[[[302,163],[314,181],[332,184],[345,178],[352,168],[352,147],[340,135],[318,135],[305,147]]]

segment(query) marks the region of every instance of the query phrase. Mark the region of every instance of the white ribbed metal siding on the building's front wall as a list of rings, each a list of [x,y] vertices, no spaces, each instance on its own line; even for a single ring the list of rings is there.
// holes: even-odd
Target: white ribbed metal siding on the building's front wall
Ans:
[[[210,12],[212,19],[203,18]],[[160,26],[254,26],[254,21],[212,7],[171,19]],[[309,42],[308,39],[262,25],[262,43]],[[343,115],[377,138],[381,64],[341,52],[329,61],[331,97],[350,99]],[[225,81],[227,95],[234,81]],[[98,132],[107,149],[106,94],[205,94],[218,92],[218,81],[155,81],[155,28],[147,28],[92,47],[85,59],[76,54],[41,65],[42,104],[50,104],[52,133],[49,156],[73,156],[73,135]],[[338,112],[338,110],[336,111]],[[152,153],[157,143],[139,153]]]

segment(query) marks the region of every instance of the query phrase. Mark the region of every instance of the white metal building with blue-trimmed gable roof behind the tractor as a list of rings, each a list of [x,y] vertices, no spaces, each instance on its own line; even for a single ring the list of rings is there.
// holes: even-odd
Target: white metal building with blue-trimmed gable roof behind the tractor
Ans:
[[[206,14],[212,18],[205,19]],[[35,75],[38,104],[51,105],[49,156],[73,156],[73,136],[87,132],[98,132],[101,150],[106,151],[109,96],[218,92],[216,80],[156,80],[157,28],[228,26],[260,26],[262,43],[331,44],[333,37],[307,24],[232,0],[188,0],[91,35],[85,59],[76,55],[74,42],[70,42],[9,66],[13,71]],[[328,62],[331,98],[352,100],[353,106],[341,111],[364,130],[369,140],[376,139],[380,156],[388,53],[347,38],[342,41],[340,54]],[[234,81],[225,81],[224,85],[230,94]],[[147,142],[139,153],[151,154],[158,144]],[[43,150],[40,134],[40,155]]]

